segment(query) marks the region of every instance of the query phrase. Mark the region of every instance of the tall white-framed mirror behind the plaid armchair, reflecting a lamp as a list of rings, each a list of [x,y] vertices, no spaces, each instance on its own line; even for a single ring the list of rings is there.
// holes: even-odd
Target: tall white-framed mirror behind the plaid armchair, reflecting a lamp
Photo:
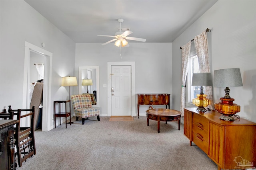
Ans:
[[[100,107],[99,66],[79,66],[79,94],[93,94],[96,103],[92,107]]]

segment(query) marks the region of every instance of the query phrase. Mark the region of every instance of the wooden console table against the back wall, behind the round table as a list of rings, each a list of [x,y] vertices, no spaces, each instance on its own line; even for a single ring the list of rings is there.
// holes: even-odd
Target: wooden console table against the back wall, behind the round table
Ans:
[[[138,118],[140,118],[140,105],[168,105],[170,109],[170,94],[137,94],[138,96]]]

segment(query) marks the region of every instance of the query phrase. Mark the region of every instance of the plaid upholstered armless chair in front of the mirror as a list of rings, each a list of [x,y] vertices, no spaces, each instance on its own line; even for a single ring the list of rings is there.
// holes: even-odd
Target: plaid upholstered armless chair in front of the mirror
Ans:
[[[85,118],[88,117],[97,116],[98,121],[100,121],[100,108],[92,107],[91,94],[71,95],[71,102],[76,115],[76,121],[82,118],[82,125],[84,125]]]

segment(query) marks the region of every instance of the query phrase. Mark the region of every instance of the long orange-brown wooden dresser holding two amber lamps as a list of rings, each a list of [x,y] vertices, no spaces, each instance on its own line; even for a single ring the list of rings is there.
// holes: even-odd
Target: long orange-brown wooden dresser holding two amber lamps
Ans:
[[[256,123],[246,119],[224,121],[217,111],[184,108],[184,135],[222,169],[256,167]]]

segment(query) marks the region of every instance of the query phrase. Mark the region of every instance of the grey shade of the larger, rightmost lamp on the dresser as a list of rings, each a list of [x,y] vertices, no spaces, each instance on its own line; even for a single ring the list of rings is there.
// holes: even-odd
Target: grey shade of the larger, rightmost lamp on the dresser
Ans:
[[[243,86],[240,68],[226,68],[214,70],[214,87],[238,87]]]

